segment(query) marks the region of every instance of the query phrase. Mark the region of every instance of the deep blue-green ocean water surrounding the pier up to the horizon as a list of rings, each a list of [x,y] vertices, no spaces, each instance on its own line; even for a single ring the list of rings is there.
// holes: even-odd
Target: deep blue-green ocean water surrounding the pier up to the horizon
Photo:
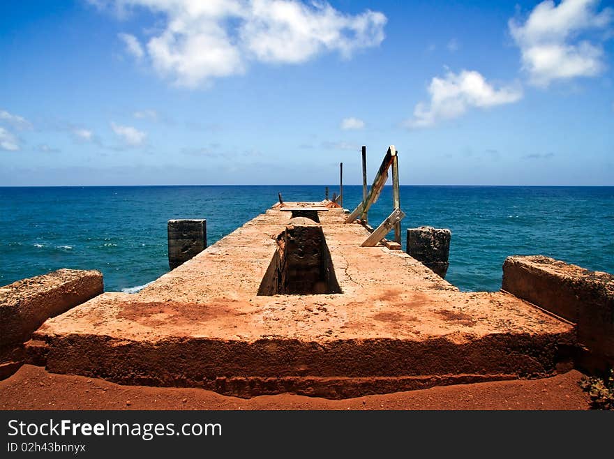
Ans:
[[[168,271],[167,220],[207,218],[211,245],[278,192],[287,201],[324,198],[324,186],[0,188],[0,285],[67,267],[98,269],[105,290],[135,292]],[[344,187],[346,208],[361,197],[361,186]],[[384,188],[373,226],[391,202]],[[401,186],[400,202],[404,248],[407,227],[451,230],[447,280],[463,290],[499,289],[508,255],[614,273],[614,187]]]

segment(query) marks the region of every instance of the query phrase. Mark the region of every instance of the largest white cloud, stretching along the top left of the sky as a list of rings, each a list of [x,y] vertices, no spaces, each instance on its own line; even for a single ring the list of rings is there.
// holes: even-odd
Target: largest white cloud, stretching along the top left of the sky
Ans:
[[[146,8],[164,18],[163,31],[145,49],[134,36],[121,38],[132,54],[147,54],[160,75],[188,87],[240,75],[249,61],[301,63],[322,52],[350,58],[380,45],[387,22],[375,11],[349,15],[328,3],[299,0],[109,0],[107,5],[121,12]]]

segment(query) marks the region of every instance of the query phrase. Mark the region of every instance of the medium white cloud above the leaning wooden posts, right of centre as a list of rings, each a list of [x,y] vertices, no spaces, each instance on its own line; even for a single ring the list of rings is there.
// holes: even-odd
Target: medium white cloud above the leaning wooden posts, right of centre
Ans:
[[[434,77],[428,86],[430,102],[418,103],[414,117],[405,121],[410,128],[426,128],[437,121],[461,116],[470,108],[488,108],[514,103],[523,96],[518,86],[502,86],[499,89],[488,83],[476,71],[448,72],[445,77]]]

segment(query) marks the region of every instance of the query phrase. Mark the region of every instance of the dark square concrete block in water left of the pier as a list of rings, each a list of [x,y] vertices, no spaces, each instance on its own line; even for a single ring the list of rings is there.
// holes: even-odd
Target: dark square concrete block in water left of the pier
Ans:
[[[207,248],[207,220],[168,220],[168,265],[175,269]]]

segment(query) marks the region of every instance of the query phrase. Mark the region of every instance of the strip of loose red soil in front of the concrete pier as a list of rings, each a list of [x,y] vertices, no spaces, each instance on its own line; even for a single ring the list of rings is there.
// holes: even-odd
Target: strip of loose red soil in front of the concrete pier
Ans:
[[[545,379],[440,386],[327,400],[280,394],[250,399],[203,389],[121,386],[25,365],[0,381],[0,409],[588,409],[576,370]]]

